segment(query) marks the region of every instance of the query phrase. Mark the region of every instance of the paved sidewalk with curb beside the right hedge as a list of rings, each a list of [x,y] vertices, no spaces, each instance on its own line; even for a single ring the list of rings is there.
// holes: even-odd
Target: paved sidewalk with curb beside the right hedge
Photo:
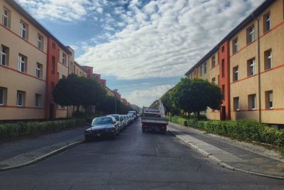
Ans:
[[[222,167],[249,174],[284,179],[284,162],[236,147],[217,137],[171,122],[168,125],[168,132]]]

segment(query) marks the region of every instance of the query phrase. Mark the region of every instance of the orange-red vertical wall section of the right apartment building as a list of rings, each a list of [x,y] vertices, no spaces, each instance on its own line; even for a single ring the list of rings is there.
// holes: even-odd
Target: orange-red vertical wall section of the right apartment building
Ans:
[[[223,50],[223,51],[222,51]],[[226,120],[231,120],[231,105],[230,105],[230,56],[229,56],[229,41],[226,41],[219,47],[219,87],[222,89],[224,85],[224,100]],[[224,65],[222,60],[224,59]],[[224,67],[224,68],[223,68]],[[224,75],[222,75],[224,73]],[[220,118],[222,118],[222,112],[220,112]]]

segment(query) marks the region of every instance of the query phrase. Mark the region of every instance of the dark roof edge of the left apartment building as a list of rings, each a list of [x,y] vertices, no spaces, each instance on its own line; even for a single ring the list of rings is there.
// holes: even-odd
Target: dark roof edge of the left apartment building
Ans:
[[[64,51],[66,51],[68,54],[72,54],[66,46],[63,45],[53,34],[51,34],[43,25],[41,25],[38,21],[36,21],[31,14],[29,14],[23,7],[21,7],[15,0],[5,0],[7,4],[9,4],[13,9],[18,11],[25,19],[33,23],[33,25],[40,29],[43,33],[45,33],[46,36],[50,36],[50,38],[53,38],[53,40],[58,43],[60,48],[62,48]]]

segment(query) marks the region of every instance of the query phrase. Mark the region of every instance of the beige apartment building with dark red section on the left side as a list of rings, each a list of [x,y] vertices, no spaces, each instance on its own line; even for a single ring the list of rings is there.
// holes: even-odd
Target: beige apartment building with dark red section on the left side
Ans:
[[[0,120],[64,117],[51,91],[71,52],[16,1],[0,1]]]

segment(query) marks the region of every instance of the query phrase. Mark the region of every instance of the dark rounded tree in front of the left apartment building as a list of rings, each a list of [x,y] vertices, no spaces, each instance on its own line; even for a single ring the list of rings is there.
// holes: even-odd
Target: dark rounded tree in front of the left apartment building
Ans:
[[[89,105],[96,105],[104,100],[105,96],[106,91],[97,80],[78,77],[74,74],[60,79],[53,89],[53,101],[55,103],[77,106],[77,111],[79,111],[80,105],[86,110]]]

